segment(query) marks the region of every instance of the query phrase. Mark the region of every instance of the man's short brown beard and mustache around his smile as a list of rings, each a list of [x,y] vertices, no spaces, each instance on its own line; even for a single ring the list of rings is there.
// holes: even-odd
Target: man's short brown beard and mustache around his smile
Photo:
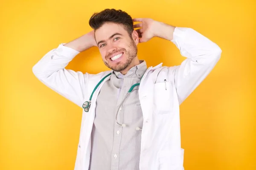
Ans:
[[[116,65],[111,66],[107,61],[103,60],[104,64],[113,71],[122,71],[122,70],[124,70],[125,68],[127,68],[131,64],[132,60],[137,56],[137,46],[136,46],[136,44],[133,40],[131,40],[131,42],[128,46],[128,49],[129,50],[126,51],[125,48],[121,48],[120,50],[114,52],[114,53],[118,53],[119,51],[125,51],[124,54],[127,55],[125,63],[118,62],[118,63],[116,63]],[[108,54],[108,56],[109,55],[111,55],[111,54]],[[106,58],[108,58],[108,56],[106,56]]]

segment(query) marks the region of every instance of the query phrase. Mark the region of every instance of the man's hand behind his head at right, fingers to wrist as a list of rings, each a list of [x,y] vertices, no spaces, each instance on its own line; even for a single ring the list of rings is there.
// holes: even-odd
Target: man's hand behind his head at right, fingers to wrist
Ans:
[[[154,23],[157,21],[152,20],[151,18],[134,18],[133,21],[142,22],[134,25],[134,28],[140,28],[136,30],[139,34],[139,42],[147,42],[155,36]]]

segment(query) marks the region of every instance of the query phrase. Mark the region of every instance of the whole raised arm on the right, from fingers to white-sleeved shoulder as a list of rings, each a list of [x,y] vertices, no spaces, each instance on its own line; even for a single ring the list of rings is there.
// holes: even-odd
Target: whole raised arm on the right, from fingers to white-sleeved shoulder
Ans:
[[[179,104],[181,104],[207,77],[221,57],[221,48],[192,28],[170,26],[149,18],[137,18],[134,28],[140,35],[140,42],[152,37],[161,37],[173,42],[186,59],[181,65],[163,69],[174,79]],[[167,69],[167,70],[166,70]]]

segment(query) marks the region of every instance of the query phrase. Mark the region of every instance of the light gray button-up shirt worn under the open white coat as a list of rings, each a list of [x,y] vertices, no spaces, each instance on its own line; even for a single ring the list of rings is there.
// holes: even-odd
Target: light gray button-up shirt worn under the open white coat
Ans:
[[[126,99],[125,95],[146,70],[146,62],[140,60],[125,75],[113,71],[102,86],[96,100],[89,170],[139,170],[141,130],[136,127],[143,126],[139,86]],[[116,123],[117,112],[117,121],[126,127]]]

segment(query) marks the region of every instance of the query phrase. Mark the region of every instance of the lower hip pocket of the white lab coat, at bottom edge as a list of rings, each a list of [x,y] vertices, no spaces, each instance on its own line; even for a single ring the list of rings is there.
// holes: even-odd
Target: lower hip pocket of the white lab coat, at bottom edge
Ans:
[[[159,153],[159,170],[184,170],[183,167],[184,149],[181,148],[179,153],[173,154],[168,151]]]

